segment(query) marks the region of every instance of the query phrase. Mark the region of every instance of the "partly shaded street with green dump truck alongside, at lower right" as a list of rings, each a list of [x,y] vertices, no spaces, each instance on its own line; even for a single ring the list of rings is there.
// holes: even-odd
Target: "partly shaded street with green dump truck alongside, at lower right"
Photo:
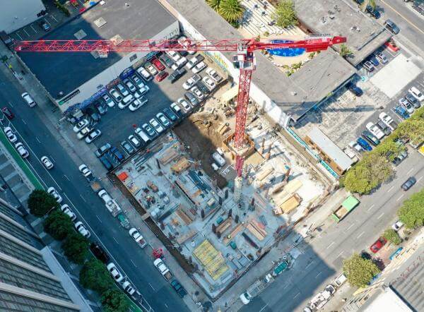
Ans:
[[[404,192],[401,184],[409,176],[415,176],[418,183]],[[339,224],[331,222],[322,232],[314,232],[314,238],[298,246],[302,255],[295,260],[293,269],[284,272],[240,311],[302,311],[314,294],[340,274],[343,259],[353,252],[368,250],[379,234],[397,220],[401,203],[423,186],[423,155],[413,151],[396,167],[393,181],[359,198],[360,205]]]

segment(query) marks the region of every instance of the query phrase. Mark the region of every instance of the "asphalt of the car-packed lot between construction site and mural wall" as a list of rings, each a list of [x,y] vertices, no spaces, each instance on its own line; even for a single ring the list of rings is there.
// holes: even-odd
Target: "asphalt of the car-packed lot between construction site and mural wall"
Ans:
[[[192,57],[196,55],[197,54],[187,55],[187,59],[192,59]],[[208,66],[212,65],[212,62],[206,59],[205,63],[207,63]],[[186,67],[183,66],[183,68]],[[88,109],[85,109],[86,113],[88,112],[88,114],[86,114],[84,118],[89,120],[89,127],[99,129],[102,132],[101,136],[96,138],[91,144],[95,145],[97,148],[100,148],[102,145],[110,143],[110,145],[119,148],[125,157],[129,156],[129,154],[122,149],[122,141],[128,141],[128,137],[130,135],[135,135],[134,130],[136,128],[142,127],[143,124],[148,124],[148,122],[154,118],[156,114],[163,112],[163,109],[169,109],[172,102],[177,102],[177,99],[184,97],[184,93],[187,92],[187,90],[184,90],[182,84],[194,75],[192,70],[189,70],[188,68],[186,69],[187,73],[184,73],[184,75],[175,81],[175,83],[171,83],[167,78],[160,82],[156,81],[155,79],[148,80],[147,82],[145,81],[150,90],[145,95],[143,95],[143,97],[146,97],[148,102],[141,108],[137,109],[135,112],[131,112],[129,107],[120,109],[117,104],[115,104],[114,107],[107,107],[107,105],[103,103],[102,107],[107,109],[107,112],[103,115],[100,115],[100,121],[96,122],[93,120],[93,118],[90,117],[90,114],[93,112],[98,114],[98,111],[95,109],[94,105],[91,105]],[[217,70],[217,68],[214,69]],[[165,68],[165,71],[167,73],[173,72],[170,68]],[[221,73],[220,75],[223,76]],[[141,75],[137,72],[136,76],[141,78]],[[199,73],[199,76],[202,78],[208,76],[206,74],[206,68]],[[223,83],[221,83],[221,85],[223,85]],[[213,92],[216,92],[218,88],[219,86],[211,93],[209,93],[208,97],[210,97]],[[191,112],[189,112],[189,114],[194,112],[196,109],[199,109],[201,105],[203,104],[197,105],[194,109],[192,109]],[[182,121],[182,119],[189,116],[189,114],[181,114],[179,120],[173,123],[172,126],[178,124],[180,121]],[[141,143],[143,143],[143,140],[141,140],[138,136],[136,136],[136,138],[140,140]],[[114,157],[110,152],[107,152],[106,154],[107,159],[114,166],[119,164],[117,162],[117,158]]]

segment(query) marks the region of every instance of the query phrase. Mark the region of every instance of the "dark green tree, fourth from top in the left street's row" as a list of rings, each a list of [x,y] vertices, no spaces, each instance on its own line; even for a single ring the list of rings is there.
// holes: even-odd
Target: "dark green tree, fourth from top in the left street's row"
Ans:
[[[99,294],[110,289],[114,284],[105,265],[95,258],[84,263],[80,271],[80,282],[83,287],[93,289]]]

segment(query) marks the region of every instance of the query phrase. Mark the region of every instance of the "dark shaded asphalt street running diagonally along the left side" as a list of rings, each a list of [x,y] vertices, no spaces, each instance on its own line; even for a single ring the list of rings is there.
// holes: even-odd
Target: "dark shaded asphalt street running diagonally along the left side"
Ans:
[[[71,205],[78,219],[88,225],[91,239],[101,241],[112,260],[155,311],[189,311],[184,301],[154,268],[146,251],[135,248],[126,230],[119,227],[100,198],[91,191],[86,179],[78,172],[78,164],[71,157],[76,155],[69,155],[69,151],[62,146],[63,140],[58,140],[52,134],[57,132],[57,128],[54,128],[39,107],[30,108],[23,102],[20,94],[25,90],[17,87],[17,83],[10,79],[0,71],[1,107],[9,107],[15,114],[11,124],[28,148],[28,163],[42,184],[57,188],[64,203]],[[54,169],[47,171],[42,166],[40,157],[44,155],[53,161]]]

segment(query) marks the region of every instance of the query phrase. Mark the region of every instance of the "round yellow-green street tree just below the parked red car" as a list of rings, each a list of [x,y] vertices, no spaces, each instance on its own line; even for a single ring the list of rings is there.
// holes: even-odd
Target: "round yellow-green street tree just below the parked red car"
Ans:
[[[365,287],[372,277],[379,274],[380,270],[372,260],[361,258],[358,253],[353,253],[351,258],[343,260],[343,272],[349,283],[357,287]]]

